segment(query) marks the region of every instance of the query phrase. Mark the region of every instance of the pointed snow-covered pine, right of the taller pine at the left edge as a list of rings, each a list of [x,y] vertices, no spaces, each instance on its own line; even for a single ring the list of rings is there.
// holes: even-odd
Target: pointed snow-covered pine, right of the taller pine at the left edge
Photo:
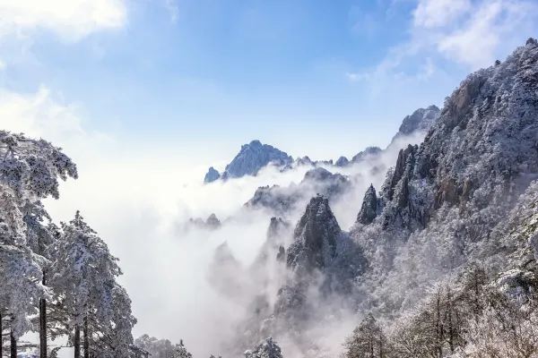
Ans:
[[[93,336],[108,336],[111,329],[116,328],[123,332],[126,327],[132,328],[135,320],[130,314],[130,300],[125,290],[116,284],[115,279],[122,272],[107,244],[84,222],[79,211],[69,224],[62,224],[62,229],[61,238],[54,244],[50,286],[57,300],[64,305],[69,327],[74,329],[75,358],[81,354],[81,328],[84,357],[89,357]],[[90,328],[96,331],[90,332]],[[116,348],[126,350],[132,343],[130,332],[114,332],[112,336],[114,339],[109,340],[126,341],[121,344],[108,342],[115,347],[108,347],[107,352]]]

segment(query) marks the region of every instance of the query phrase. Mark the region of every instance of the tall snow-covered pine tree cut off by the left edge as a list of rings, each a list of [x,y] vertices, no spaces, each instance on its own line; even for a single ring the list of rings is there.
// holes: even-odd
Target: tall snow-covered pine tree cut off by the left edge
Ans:
[[[44,140],[0,131],[0,311],[11,320],[11,355],[30,329],[28,317],[48,296],[42,284],[45,260],[32,251],[24,212],[49,196],[57,199],[58,179],[77,178],[76,166],[61,149]]]

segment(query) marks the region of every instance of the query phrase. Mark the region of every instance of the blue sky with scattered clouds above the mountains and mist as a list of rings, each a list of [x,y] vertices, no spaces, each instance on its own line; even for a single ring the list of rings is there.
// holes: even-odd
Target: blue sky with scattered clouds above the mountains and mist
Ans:
[[[385,146],[536,34],[534,1],[37,1],[0,4],[26,16],[0,23],[4,90],[46,86],[86,131],[204,162],[253,139],[314,158]]]

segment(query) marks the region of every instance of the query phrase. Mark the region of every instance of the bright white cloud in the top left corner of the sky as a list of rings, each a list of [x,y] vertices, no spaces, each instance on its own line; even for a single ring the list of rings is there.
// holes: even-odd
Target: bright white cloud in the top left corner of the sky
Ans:
[[[0,0],[0,37],[50,30],[77,41],[125,23],[125,0]]]

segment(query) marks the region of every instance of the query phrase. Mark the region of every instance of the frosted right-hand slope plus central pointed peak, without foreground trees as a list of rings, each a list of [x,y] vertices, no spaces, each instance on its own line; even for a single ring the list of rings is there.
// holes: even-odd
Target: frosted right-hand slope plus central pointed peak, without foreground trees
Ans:
[[[473,261],[508,294],[526,282],[538,245],[538,43],[469,75],[435,112],[416,115],[433,122],[425,140],[400,150],[378,191],[369,187],[350,234],[326,198],[310,200],[285,250],[290,277],[258,335],[304,352],[317,341],[305,332],[323,326],[336,297],[398,322]]]

